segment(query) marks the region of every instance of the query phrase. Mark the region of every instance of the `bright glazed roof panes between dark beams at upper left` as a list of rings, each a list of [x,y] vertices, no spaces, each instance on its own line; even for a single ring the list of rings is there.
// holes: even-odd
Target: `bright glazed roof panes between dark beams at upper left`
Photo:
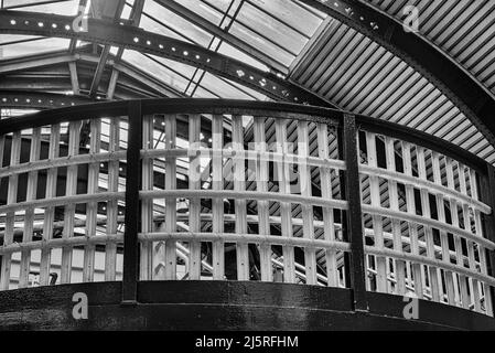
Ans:
[[[225,43],[222,39],[174,13],[160,2],[160,0],[144,1],[140,28],[207,47],[262,71],[269,69],[251,55]],[[308,9],[298,1],[175,0],[175,2],[225,32],[235,35],[246,45],[267,54],[287,68],[314,34],[324,18],[321,13]],[[122,19],[130,18],[133,4],[134,0],[126,1],[121,13]],[[79,0],[3,0],[1,6],[3,9],[14,11],[76,15]],[[87,1],[85,12],[92,15],[92,0]],[[63,39],[28,35],[2,34],[0,38],[0,60],[53,51],[68,51],[71,42]],[[85,43],[77,41],[76,47],[80,47],[82,44]],[[117,52],[117,47],[111,47],[111,54],[116,55]],[[172,87],[179,95],[267,99],[266,96],[239,84],[162,57],[126,50],[122,60]]]

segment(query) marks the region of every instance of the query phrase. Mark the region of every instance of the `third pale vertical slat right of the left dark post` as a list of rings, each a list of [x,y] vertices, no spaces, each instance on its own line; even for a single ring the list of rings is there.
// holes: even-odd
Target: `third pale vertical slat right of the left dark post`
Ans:
[[[189,142],[191,149],[201,147],[201,116],[197,114],[189,117]],[[189,189],[201,189],[201,157],[197,153],[190,157]],[[201,199],[198,197],[190,200],[189,223],[190,232],[201,232]],[[190,249],[190,278],[197,280],[201,278],[201,242],[191,242]]]

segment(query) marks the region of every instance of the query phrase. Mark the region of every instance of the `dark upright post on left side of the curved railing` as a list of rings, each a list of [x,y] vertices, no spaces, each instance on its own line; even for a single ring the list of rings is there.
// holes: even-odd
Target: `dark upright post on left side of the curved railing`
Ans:
[[[122,304],[136,304],[139,280],[139,242],[141,181],[140,151],[142,146],[141,101],[129,101],[127,143],[126,232],[123,234]]]

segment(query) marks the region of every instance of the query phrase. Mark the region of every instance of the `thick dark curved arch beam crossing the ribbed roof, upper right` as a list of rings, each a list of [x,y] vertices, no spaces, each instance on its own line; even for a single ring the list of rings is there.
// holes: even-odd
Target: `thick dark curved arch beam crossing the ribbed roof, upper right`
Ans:
[[[362,0],[300,0],[365,34],[427,77],[495,146],[495,97],[424,38]]]

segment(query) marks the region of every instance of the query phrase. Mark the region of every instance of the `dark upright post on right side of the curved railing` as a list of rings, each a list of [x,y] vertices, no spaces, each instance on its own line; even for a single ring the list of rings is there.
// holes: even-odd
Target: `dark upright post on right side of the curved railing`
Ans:
[[[347,232],[351,242],[351,287],[354,292],[354,309],[367,311],[366,269],[361,208],[361,182],[357,154],[357,128],[353,115],[344,115],[343,129],[345,171],[345,199],[348,202]]]

